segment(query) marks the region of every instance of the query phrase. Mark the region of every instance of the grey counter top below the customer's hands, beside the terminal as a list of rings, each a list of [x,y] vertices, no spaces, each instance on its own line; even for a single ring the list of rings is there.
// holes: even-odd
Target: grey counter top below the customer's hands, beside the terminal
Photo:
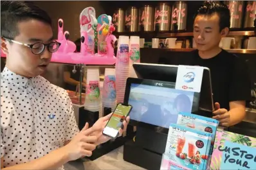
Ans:
[[[98,170],[98,169],[136,169],[141,170],[142,167],[136,166],[129,162],[123,160],[123,146],[114,149],[113,151],[107,153],[106,155],[96,159],[79,159],[76,161],[68,162],[64,165],[65,170]]]

